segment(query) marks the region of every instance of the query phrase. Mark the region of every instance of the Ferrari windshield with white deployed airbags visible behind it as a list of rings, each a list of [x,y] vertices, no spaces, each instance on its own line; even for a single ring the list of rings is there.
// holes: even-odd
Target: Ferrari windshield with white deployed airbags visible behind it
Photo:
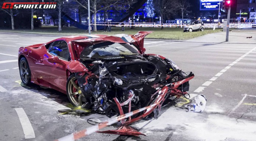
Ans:
[[[80,59],[104,59],[126,55],[140,55],[140,53],[132,45],[108,41],[83,49]]]

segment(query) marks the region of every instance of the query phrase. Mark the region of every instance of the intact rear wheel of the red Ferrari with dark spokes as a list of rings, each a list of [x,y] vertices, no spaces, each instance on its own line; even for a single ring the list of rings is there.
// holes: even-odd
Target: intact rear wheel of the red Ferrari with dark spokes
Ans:
[[[19,61],[19,75],[24,85],[31,84],[31,71],[25,57],[22,57]]]

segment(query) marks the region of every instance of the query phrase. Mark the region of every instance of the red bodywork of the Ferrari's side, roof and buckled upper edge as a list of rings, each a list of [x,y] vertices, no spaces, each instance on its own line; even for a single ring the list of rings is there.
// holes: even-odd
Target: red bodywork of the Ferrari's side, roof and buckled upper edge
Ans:
[[[124,37],[106,36],[106,35],[88,35],[88,36],[69,36],[58,38],[56,40],[47,42],[45,44],[36,44],[28,47],[19,48],[19,60],[21,57],[25,57],[28,61],[29,68],[31,70],[31,82],[45,86],[47,88],[53,88],[60,92],[66,93],[66,84],[69,74],[77,72],[87,72],[88,69],[79,61],[79,57],[82,49],[89,45],[97,44],[100,42],[117,42],[117,43],[132,43],[139,52],[143,53],[144,37],[151,32],[141,31],[135,35],[128,36],[122,34]],[[68,50],[70,53],[70,61],[61,60],[61,63],[51,63],[48,58],[54,57],[51,55],[46,46],[54,41],[65,41],[68,44]],[[75,43],[79,43],[82,46],[78,46]],[[89,73],[89,72],[88,72]]]

